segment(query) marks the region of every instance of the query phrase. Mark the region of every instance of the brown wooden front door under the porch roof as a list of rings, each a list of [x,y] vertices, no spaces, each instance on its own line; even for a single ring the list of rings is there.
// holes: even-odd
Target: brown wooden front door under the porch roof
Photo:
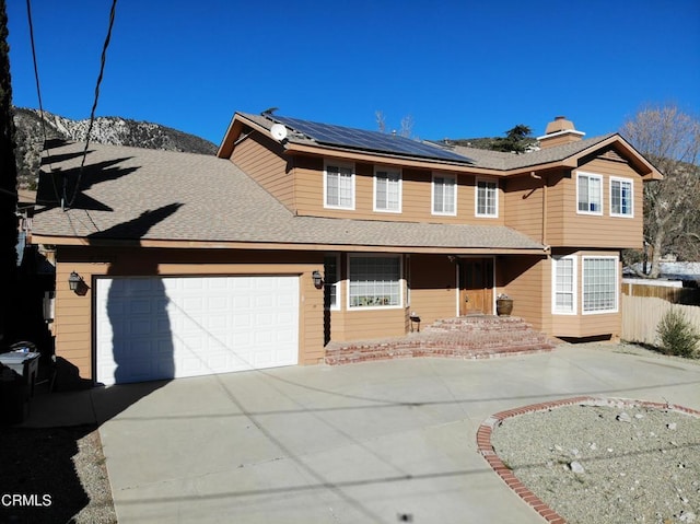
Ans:
[[[493,258],[459,260],[459,315],[493,314]]]

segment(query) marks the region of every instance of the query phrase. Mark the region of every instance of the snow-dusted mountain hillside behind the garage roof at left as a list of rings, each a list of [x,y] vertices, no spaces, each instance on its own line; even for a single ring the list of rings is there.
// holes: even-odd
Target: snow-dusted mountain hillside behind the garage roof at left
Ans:
[[[84,141],[89,119],[72,120],[44,112],[46,139]],[[42,118],[37,109],[14,108],[16,127],[18,184],[20,188],[34,189],[44,145]],[[113,145],[131,145],[166,151],[215,154],[217,145],[208,140],[188,135],[177,129],[136,121],[121,117],[97,117],[92,127],[91,142]]]

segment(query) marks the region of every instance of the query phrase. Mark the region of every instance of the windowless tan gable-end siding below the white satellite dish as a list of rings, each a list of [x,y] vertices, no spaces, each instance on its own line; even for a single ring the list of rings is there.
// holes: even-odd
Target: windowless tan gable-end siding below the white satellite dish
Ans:
[[[288,168],[288,162],[281,152],[279,143],[253,133],[236,145],[231,160],[293,211],[293,173]]]

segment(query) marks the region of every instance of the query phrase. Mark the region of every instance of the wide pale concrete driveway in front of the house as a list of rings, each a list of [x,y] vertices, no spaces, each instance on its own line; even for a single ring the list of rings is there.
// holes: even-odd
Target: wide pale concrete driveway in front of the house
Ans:
[[[700,365],[562,346],[91,394],[121,524],[541,523],[477,453],[476,431],[497,411],[578,395],[700,409]]]

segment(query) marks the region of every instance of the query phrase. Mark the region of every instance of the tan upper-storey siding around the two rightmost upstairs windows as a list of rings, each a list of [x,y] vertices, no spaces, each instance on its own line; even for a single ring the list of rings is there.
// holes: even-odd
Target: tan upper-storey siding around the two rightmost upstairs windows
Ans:
[[[603,176],[603,213],[578,213],[576,172]],[[610,177],[629,178],[633,183],[633,218],[610,216]],[[547,243],[552,246],[581,246],[598,248],[639,248],[642,246],[643,226],[642,179],[627,163],[608,158],[593,159],[571,176],[558,177],[549,191]]]

